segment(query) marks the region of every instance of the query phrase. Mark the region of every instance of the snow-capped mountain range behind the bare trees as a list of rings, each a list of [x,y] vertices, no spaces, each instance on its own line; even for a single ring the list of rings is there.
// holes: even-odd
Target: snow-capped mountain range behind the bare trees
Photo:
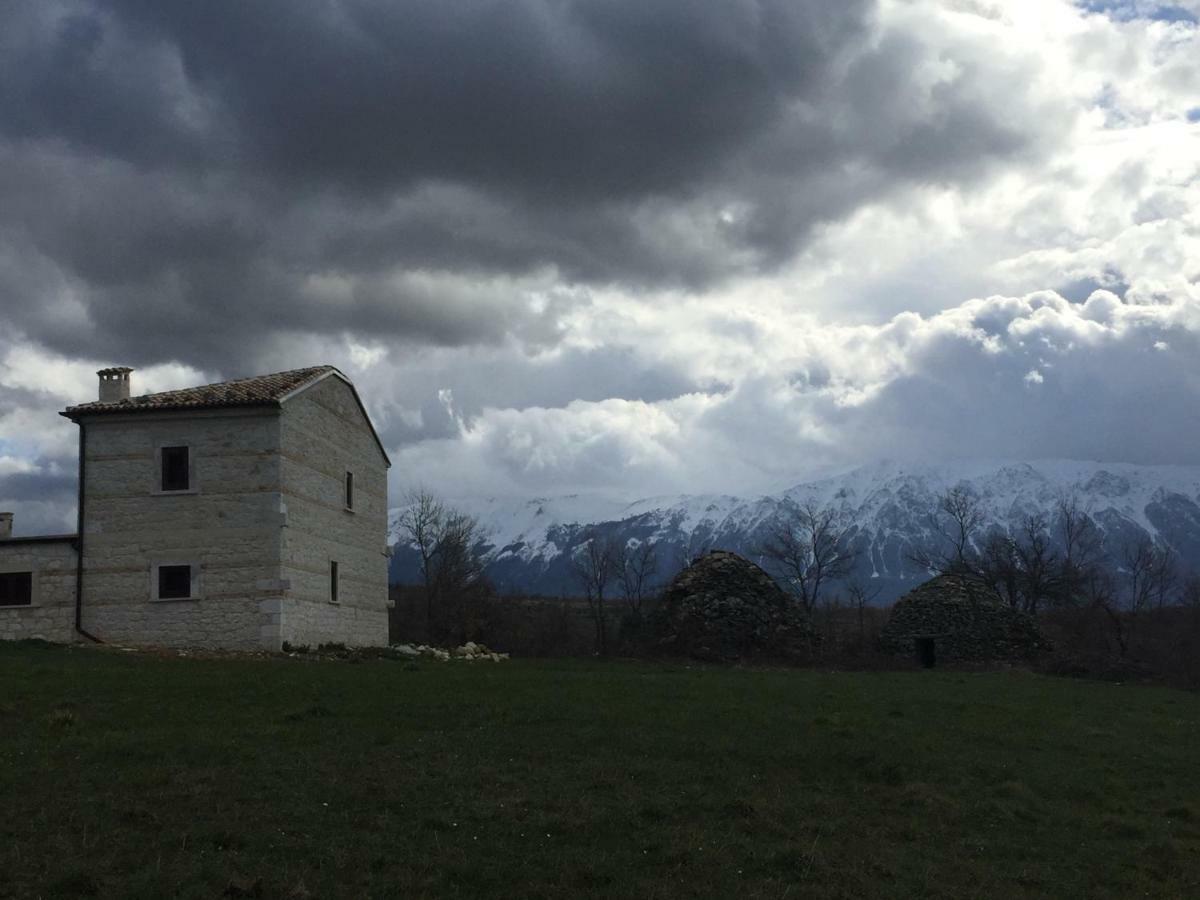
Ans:
[[[590,534],[655,541],[662,577],[709,548],[755,558],[772,521],[790,503],[838,510],[859,550],[854,577],[880,588],[887,602],[928,574],[911,560],[934,540],[937,498],[964,486],[980,503],[983,532],[1010,529],[1030,512],[1055,518],[1057,498],[1072,492],[1087,509],[1116,559],[1140,536],[1163,541],[1183,569],[1200,571],[1200,466],[1134,466],[1064,460],[950,463],[880,462],[798,484],[774,494],[684,494],[628,500],[595,494],[522,498],[448,498],[475,516],[487,534],[488,571],[503,592],[575,594],[569,559]],[[392,535],[398,541],[392,510]],[[416,558],[397,542],[392,581],[415,582]]]

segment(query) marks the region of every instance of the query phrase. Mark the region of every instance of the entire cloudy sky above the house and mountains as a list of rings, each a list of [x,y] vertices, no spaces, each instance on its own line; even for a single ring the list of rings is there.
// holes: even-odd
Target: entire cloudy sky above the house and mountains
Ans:
[[[0,509],[95,370],[331,362],[392,492],[1200,462],[1200,0],[7,0]]]

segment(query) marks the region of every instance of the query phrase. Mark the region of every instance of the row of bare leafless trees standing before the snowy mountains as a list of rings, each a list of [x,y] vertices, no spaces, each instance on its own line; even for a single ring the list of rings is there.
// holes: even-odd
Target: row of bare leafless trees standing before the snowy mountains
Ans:
[[[1168,605],[1200,606],[1200,577],[1187,575],[1165,541],[1145,534],[1114,557],[1091,510],[1076,494],[1061,493],[1050,514],[1020,516],[1008,529],[986,528],[980,499],[965,485],[936,498],[926,516],[928,539],[910,560],[930,576],[962,574],[986,584],[1002,601],[1038,616],[1048,610],[1091,608],[1110,617],[1122,652],[1129,617]],[[472,616],[494,595],[487,580],[487,535],[478,520],[415,491],[398,520],[416,551],[427,632],[464,640]],[[806,613],[829,598],[864,611],[877,598],[857,576],[857,529],[833,505],[788,502],[764,526],[752,554]],[[1109,548],[1111,550],[1111,548]],[[569,570],[587,605],[594,649],[611,649],[613,620],[640,628],[679,568],[668,568],[653,540],[624,540],[599,527],[584,532]]]

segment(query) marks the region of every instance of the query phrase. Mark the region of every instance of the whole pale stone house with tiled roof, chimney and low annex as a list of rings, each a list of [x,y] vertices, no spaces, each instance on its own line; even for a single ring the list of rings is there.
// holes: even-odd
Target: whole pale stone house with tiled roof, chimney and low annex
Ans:
[[[0,638],[274,649],[388,641],[390,462],[332,366],[130,396],[79,426],[78,532],[12,538]]]

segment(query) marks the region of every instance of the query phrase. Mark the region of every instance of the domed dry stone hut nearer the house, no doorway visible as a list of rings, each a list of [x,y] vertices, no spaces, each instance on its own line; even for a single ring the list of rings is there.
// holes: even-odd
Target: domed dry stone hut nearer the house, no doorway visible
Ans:
[[[815,632],[796,602],[744,557],[707,553],[676,576],[662,596],[660,647],[713,661],[797,659]]]

